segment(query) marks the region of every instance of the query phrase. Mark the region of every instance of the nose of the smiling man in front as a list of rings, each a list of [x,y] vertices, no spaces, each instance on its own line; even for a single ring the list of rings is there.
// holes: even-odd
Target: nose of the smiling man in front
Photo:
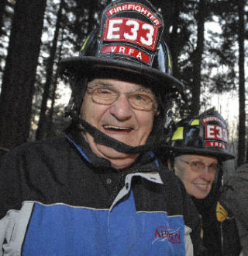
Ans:
[[[132,107],[124,93],[122,93],[119,98],[112,103],[109,107],[109,112],[119,121],[126,121],[132,116]]]

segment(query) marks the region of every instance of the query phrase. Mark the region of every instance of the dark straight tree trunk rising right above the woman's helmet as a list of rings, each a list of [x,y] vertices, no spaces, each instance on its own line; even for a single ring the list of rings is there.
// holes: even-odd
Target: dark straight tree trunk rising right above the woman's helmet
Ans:
[[[192,84],[192,98],[191,98],[191,114],[197,115],[200,110],[200,96],[201,96],[201,68],[202,68],[202,54],[204,49],[204,24],[205,24],[205,0],[200,0],[197,14],[197,46],[193,53],[193,84]]]

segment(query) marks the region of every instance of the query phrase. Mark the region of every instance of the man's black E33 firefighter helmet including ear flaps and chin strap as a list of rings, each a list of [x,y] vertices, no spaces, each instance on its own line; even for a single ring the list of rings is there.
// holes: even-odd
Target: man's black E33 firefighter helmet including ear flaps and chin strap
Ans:
[[[160,113],[154,120],[153,130],[164,131],[168,102],[182,92],[183,85],[171,75],[171,55],[162,39],[163,30],[160,13],[147,0],[111,2],[102,12],[100,27],[84,41],[80,55],[60,61],[60,74],[69,79],[72,89],[65,114],[91,130],[98,142],[110,146],[111,140],[115,149],[123,149],[123,145],[116,146],[115,139],[96,131],[78,117],[87,83],[95,77],[127,80],[150,87]],[[160,132],[153,131],[153,134],[161,139]],[[124,151],[132,150],[128,147]]]

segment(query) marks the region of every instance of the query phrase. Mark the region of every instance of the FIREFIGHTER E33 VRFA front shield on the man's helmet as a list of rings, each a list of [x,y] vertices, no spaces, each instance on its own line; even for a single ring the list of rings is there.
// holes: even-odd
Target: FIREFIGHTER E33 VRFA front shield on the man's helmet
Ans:
[[[163,19],[149,2],[112,2],[102,13],[100,55],[151,66],[163,28]]]

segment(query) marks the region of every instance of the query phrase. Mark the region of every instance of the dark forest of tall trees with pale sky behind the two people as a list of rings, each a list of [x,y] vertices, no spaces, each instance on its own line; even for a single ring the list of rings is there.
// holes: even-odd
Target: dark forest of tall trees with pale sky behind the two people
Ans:
[[[70,89],[61,58],[77,56],[110,0],[0,2],[0,149],[60,135]],[[248,163],[247,0],[151,0],[164,17],[173,73],[186,98],[177,119],[215,106],[229,122],[236,161]]]

